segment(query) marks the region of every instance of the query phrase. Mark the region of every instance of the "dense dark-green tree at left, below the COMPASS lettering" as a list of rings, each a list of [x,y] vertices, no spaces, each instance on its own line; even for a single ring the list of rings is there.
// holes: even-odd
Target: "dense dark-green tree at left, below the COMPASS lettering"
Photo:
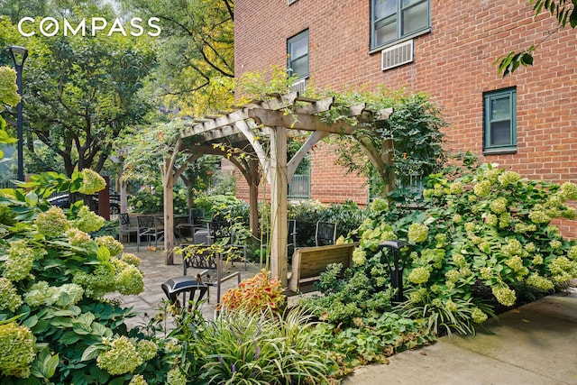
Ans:
[[[68,18],[78,20],[77,12]],[[22,40],[14,24],[1,24],[0,41]],[[151,40],[120,33],[50,38],[37,33],[25,44],[30,57],[24,129],[32,158],[37,139],[60,157],[68,176],[85,168],[102,170],[114,140],[151,109],[139,93],[155,65]]]

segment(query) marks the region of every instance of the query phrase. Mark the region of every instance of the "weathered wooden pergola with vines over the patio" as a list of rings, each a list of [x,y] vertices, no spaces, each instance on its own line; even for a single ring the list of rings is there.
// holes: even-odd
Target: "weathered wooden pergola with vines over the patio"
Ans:
[[[251,230],[258,230],[258,187],[261,172],[270,185],[270,270],[283,287],[287,285],[287,191],[298,164],[319,142],[330,133],[352,134],[359,124],[375,125],[389,118],[392,109],[371,112],[365,105],[346,108],[345,116],[355,123],[339,121],[325,123],[319,114],[334,105],[334,98],[312,99],[299,96],[270,95],[267,100],[253,101],[234,112],[222,112],[217,116],[206,116],[194,121],[180,134],[174,151],[165,159],[162,167],[164,186],[164,234],[173,234],[173,185],[186,170],[188,162],[204,154],[226,156],[241,170],[250,190]],[[288,130],[312,132],[296,154],[287,159]],[[392,164],[390,151],[376,149],[371,142],[360,140],[369,159],[378,167]],[[390,142],[390,141],[386,141]],[[389,145],[389,144],[388,144]],[[177,155],[188,153],[188,160],[176,167]],[[382,155],[385,154],[385,155]],[[392,180],[392,179],[389,179]],[[166,263],[173,263],[173,237],[165,236]]]

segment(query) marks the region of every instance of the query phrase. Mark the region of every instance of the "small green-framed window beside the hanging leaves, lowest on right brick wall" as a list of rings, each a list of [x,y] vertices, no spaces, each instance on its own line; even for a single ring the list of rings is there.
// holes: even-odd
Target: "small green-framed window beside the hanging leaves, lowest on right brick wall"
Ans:
[[[517,89],[507,88],[483,96],[484,153],[517,150]]]

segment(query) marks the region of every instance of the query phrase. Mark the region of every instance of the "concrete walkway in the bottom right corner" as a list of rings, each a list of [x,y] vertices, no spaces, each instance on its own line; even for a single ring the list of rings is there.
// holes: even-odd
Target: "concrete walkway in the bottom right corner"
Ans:
[[[487,323],[489,333],[399,353],[357,369],[345,385],[577,384],[577,289]]]

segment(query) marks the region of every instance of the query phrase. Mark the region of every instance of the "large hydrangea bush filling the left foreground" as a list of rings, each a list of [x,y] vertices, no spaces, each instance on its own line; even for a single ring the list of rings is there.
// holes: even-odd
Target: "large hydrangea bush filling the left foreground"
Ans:
[[[10,383],[170,383],[178,353],[128,331],[130,310],[104,298],[142,291],[140,260],[111,236],[93,239],[88,232],[104,219],[82,202],[63,211],[41,198],[104,186],[84,170],[33,176],[0,193],[0,377]]]

